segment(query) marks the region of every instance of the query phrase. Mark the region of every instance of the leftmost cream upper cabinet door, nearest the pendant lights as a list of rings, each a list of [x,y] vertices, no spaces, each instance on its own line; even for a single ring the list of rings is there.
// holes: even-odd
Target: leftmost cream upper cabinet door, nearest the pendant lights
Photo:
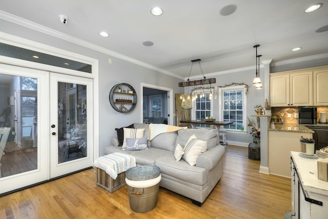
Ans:
[[[270,76],[270,105],[272,107],[286,107],[290,104],[289,74]]]

